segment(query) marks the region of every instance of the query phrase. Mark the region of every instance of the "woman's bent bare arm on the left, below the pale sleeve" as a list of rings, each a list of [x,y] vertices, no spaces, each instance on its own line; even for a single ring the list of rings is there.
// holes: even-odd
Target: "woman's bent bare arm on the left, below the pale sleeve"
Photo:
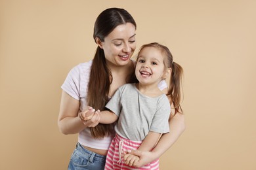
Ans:
[[[58,115],[58,128],[65,135],[79,133],[85,127],[95,127],[100,119],[95,114],[91,120],[83,121],[78,117],[79,101],[62,90],[60,112]]]

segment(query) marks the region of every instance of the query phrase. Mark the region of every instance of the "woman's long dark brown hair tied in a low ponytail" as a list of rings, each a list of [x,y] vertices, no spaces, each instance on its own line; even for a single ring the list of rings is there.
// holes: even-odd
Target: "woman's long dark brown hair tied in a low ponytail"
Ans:
[[[119,8],[106,9],[96,18],[93,39],[100,39],[108,36],[118,25],[136,22],[127,10]],[[87,105],[96,110],[104,110],[109,100],[110,84],[112,83],[112,73],[106,64],[104,51],[99,46],[96,48],[95,57],[91,66],[91,73],[88,84]],[[91,127],[91,135],[95,139],[100,139],[112,135],[114,131],[113,124],[98,124]]]

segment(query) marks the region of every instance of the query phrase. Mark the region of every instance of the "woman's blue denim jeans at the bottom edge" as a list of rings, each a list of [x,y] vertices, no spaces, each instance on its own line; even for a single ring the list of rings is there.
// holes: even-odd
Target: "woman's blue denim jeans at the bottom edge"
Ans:
[[[68,170],[102,170],[105,167],[106,156],[91,152],[77,143],[71,156]]]

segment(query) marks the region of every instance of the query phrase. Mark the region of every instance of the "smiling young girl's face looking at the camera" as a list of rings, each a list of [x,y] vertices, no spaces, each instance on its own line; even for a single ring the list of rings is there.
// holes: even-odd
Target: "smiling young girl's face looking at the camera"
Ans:
[[[164,56],[158,48],[152,46],[142,48],[135,68],[135,75],[139,82],[158,85],[167,74],[163,60]]]

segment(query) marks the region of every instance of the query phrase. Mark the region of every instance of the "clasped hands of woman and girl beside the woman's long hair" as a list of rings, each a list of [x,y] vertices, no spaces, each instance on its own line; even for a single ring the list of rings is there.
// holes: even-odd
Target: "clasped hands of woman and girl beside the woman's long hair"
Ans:
[[[95,127],[100,121],[100,110],[93,109],[93,107],[87,107],[86,110],[79,112],[78,117],[87,127]]]

